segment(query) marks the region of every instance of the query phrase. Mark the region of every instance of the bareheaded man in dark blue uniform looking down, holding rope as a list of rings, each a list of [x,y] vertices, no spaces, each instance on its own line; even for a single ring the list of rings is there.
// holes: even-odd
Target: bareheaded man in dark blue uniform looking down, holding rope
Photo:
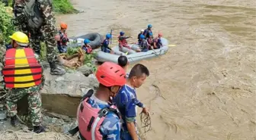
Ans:
[[[128,79],[126,79],[126,85],[120,89],[114,98],[114,103],[117,105],[123,118],[122,140],[139,140],[136,127],[136,106],[141,107],[144,114],[149,114],[149,111],[137,99],[136,88],[142,86],[147,76],[149,76],[148,68],[142,64],[136,64],[130,71]]]

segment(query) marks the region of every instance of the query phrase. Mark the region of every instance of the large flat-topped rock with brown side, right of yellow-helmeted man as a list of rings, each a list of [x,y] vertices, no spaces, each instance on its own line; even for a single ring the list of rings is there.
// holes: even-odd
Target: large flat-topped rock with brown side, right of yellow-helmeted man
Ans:
[[[50,75],[44,71],[46,82],[41,90],[43,109],[69,117],[76,116],[78,104],[89,89],[98,88],[98,80],[91,74],[85,76],[80,71],[71,71],[63,76]]]

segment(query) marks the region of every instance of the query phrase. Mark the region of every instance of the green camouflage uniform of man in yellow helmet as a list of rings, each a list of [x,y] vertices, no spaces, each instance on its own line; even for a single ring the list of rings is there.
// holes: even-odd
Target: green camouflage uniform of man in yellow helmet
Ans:
[[[22,47],[18,47],[22,48]],[[18,49],[16,48],[16,49]],[[38,58],[37,54],[35,54],[36,58]],[[4,67],[5,64],[5,54],[2,55],[0,59],[0,69]],[[29,88],[14,88],[10,89],[8,92],[8,96],[6,98],[6,107],[8,110],[8,117],[14,117],[17,114],[17,102],[21,100],[24,96],[28,95],[27,101],[30,110],[30,120],[33,126],[40,126],[42,114],[41,114],[41,97],[40,97],[40,89],[43,88],[45,77],[42,76],[42,82],[39,86],[32,86]]]

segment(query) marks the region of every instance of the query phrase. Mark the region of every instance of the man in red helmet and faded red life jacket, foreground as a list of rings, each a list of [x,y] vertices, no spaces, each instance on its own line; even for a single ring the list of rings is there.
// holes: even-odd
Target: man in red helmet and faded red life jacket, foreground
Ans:
[[[112,104],[114,98],[126,82],[125,71],[112,62],[105,62],[96,72],[98,90],[93,90],[82,98],[78,107],[78,127],[69,131],[72,135],[79,131],[82,140],[120,140],[120,112]]]

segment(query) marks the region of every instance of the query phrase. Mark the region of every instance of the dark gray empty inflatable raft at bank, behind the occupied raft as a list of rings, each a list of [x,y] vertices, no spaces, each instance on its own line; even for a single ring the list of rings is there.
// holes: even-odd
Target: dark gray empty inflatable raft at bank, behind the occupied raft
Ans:
[[[101,46],[101,42],[103,42],[104,37],[99,33],[88,33],[82,36],[76,36],[69,38],[68,47],[77,47],[84,45],[84,39],[89,39],[91,42],[92,49],[98,48]]]

